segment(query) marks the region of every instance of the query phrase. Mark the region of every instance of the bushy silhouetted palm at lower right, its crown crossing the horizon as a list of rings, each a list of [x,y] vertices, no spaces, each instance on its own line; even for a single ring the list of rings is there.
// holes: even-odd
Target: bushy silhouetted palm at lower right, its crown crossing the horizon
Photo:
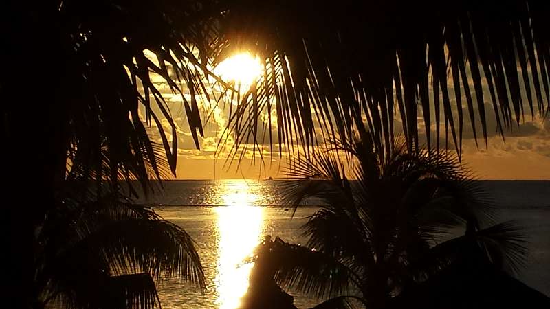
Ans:
[[[338,148],[357,180],[346,179],[335,156],[296,164],[290,174],[305,179],[287,185],[287,203],[320,205],[303,226],[307,244],[266,242],[254,258],[283,288],[329,297],[318,308],[347,308],[351,299],[388,308],[452,268],[475,278],[478,265],[522,266],[524,236],[514,222],[492,225],[491,199],[457,157],[393,146],[382,159],[368,136]]]

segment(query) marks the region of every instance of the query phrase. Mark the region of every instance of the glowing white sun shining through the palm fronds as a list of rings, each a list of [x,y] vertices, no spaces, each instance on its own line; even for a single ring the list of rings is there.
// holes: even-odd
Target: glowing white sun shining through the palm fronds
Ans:
[[[260,58],[243,52],[223,60],[214,68],[214,73],[226,82],[235,82],[241,87],[248,88],[262,75],[263,65]]]

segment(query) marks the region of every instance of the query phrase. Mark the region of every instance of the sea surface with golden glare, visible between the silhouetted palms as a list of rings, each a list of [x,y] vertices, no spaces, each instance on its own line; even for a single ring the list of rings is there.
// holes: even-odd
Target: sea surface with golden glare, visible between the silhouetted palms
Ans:
[[[529,236],[529,261],[518,279],[550,296],[550,181],[481,181],[497,207],[498,222],[517,220]],[[292,211],[280,205],[280,181],[167,181],[164,191],[138,201],[183,227],[197,242],[206,290],[168,279],[159,284],[164,308],[238,308],[248,288],[252,264],[243,260],[265,236],[304,243],[300,226],[317,207]],[[314,204],[314,201],[311,202]],[[294,295],[298,308],[321,299]]]

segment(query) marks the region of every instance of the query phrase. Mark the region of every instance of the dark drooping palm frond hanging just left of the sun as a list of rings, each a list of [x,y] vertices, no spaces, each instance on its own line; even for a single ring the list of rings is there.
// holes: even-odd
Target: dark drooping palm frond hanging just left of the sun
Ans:
[[[208,96],[203,91],[207,64],[201,64],[199,58],[206,59],[201,53],[207,52],[203,31],[208,32],[208,28],[201,29],[196,19],[197,24],[190,23],[189,18],[182,20],[196,14],[196,5],[107,1],[90,7],[89,3],[71,1],[61,8],[58,18],[80,22],[69,23],[62,32],[72,40],[67,45],[76,46],[72,73],[78,76],[65,87],[83,91],[72,105],[71,126],[66,130],[73,134],[74,148],[83,152],[81,160],[87,163],[83,166],[99,173],[96,178],[160,178],[157,153],[148,134],[160,139],[168,166],[175,173],[176,124],[166,93],[153,80],[153,74],[168,84],[169,91],[181,96],[198,147],[197,131],[202,135],[203,130],[197,96]],[[90,10],[109,19],[90,19]],[[148,26],[138,26],[140,23]],[[164,126],[166,121],[168,127]],[[154,124],[155,130],[148,133],[143,122]],[[94,165],[105,161],[103,157],[109,163],[107,171]]]

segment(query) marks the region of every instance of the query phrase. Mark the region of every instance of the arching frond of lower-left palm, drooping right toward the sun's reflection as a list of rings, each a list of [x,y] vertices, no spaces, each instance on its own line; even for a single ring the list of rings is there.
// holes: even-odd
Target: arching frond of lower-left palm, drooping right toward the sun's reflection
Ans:
[[[203,269],[194,244],[183,229],[171,222],[126,219],[96,227],[75,244],[76,252],[71,254],[96,252],[113,274],[143,271],[155,280],[183,277],[203,288]]]

